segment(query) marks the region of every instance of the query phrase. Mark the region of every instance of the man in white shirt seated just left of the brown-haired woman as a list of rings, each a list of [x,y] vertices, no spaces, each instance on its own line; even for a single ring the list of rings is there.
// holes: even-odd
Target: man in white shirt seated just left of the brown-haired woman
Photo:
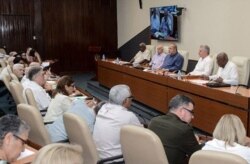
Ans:
[[[23,95],[25,96],[25,90],[30,88],[36,100],[37,106],[44,116],[46,114],[47,108],[50,104],[51,97],[48,93],[46,93],[45,89],[43,88],[46,81],[44,79],[44,72],[41,67],[31,67],[28,71],[27,78],[23,85]]]

